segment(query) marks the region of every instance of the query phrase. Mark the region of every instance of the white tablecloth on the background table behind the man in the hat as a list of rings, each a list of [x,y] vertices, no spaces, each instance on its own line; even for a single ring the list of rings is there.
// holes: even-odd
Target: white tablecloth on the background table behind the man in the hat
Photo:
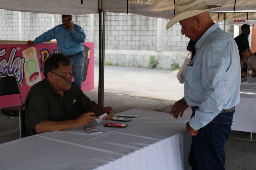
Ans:
[[[242,83],[240,103],[236,106],[232,130],[256,132],[256,77]]]

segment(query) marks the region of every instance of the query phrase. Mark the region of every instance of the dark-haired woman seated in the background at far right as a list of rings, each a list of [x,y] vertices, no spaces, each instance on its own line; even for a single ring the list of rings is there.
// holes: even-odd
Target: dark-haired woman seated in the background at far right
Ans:
[[[249,63],[248,59],[251,58],[252,52],[249,46],[241,46],[239,48],[240,65],[241,65],[241,78],[247,75],[247,68],[250,66],[252,69],[252,76],[256,76],[255,68]]]

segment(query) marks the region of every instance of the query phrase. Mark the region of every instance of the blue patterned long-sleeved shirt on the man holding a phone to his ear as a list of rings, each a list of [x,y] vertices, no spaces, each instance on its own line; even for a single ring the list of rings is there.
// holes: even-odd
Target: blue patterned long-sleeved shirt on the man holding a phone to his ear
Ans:
[[[72,22],[73,23],[73,22]],[[62,24],[38,36],[34,43],[43,43],[57,40],[58,51],[65,55],[75,55],[84,50],[83,42],[85,41],[84,30],[77,24],[73,23],[73,30],[65,29]]]

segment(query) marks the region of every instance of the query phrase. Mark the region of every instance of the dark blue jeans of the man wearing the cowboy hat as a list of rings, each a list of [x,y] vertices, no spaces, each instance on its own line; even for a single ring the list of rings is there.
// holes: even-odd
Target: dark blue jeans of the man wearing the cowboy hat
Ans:
[[[195,113],[192,114],[194,116]],[[192,170],[225,170],[224,145],[231,134],[234,112],[220,113],[192,136],[189,165]]]

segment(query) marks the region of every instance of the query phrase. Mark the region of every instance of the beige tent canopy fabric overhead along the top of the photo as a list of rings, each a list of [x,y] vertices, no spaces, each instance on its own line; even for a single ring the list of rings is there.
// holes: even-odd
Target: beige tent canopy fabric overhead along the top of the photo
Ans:
[[[176,0],[177,1],[177,0]],[[173,18],[174,0],[128,0],[128,12],[132,14],[165,18]],[[223,7],[212,11],[233,12],[235,0],[206,0],[207,4]],[[102,0],[102,11],[126,13],[127,0]],[[1,0],[0,9],[49,14],[96,14],[97,0]],[[236,10],[255,10],[255,0],[239,0]],[[220,21],[220,20],[219,20]]]

